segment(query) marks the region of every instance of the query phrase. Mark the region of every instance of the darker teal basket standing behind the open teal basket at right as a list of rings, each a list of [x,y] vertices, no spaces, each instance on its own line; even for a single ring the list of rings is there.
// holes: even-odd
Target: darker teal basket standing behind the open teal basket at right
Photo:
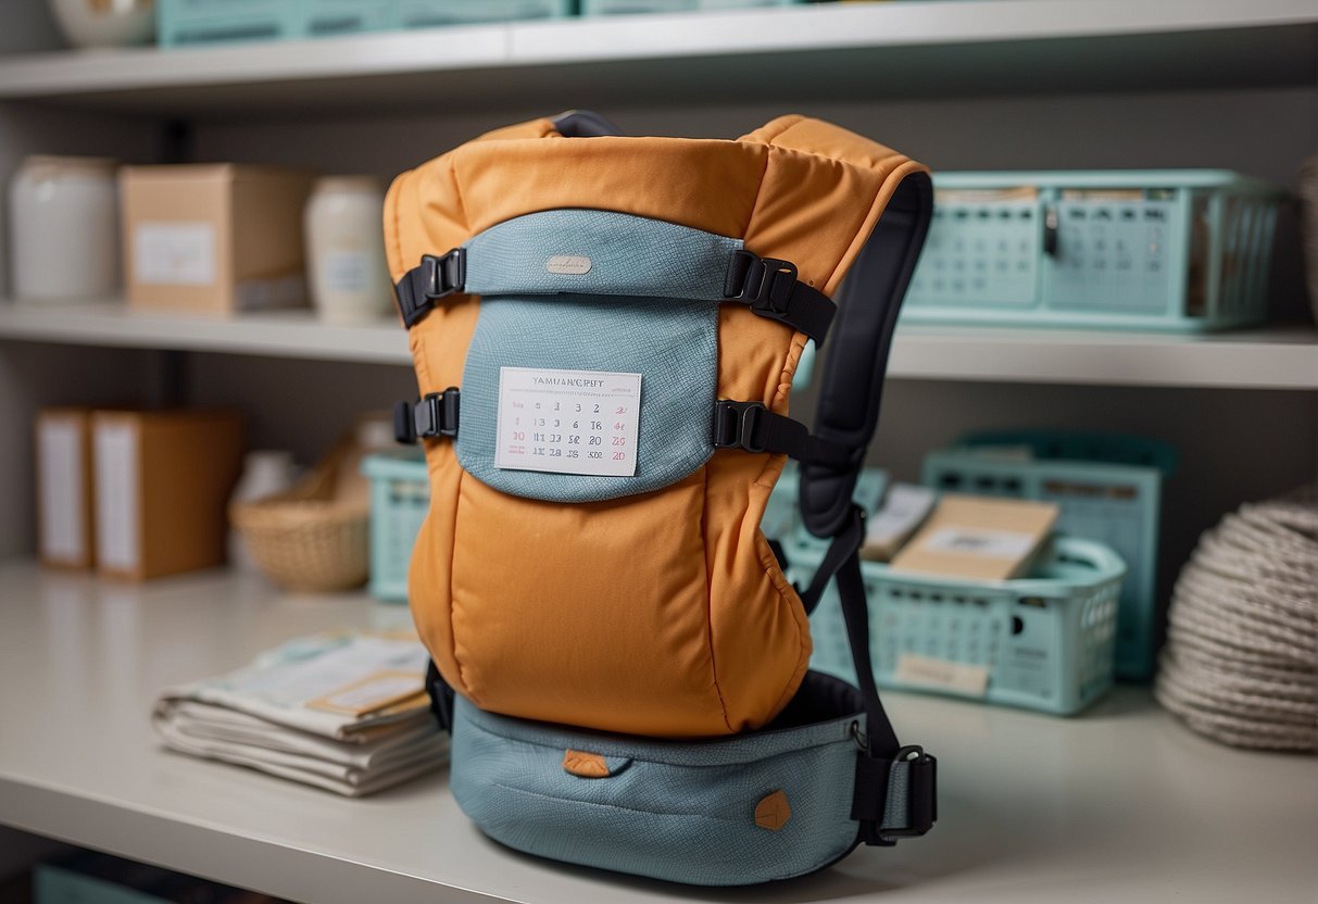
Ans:
[[[1116,677],[1144,681],[1153,676],[1157,652],[1162,481],[1176,473],[1177,459],[1166,443],[1136,436],[992,431],[931,452],[921,480],[940,490],[1054,502],[1058,531],[1116,550],[1128,568],[1116,622]]]

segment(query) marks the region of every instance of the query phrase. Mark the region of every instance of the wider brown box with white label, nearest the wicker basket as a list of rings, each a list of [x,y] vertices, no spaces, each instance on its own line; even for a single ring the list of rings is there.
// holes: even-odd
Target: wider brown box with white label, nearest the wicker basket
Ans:
[[[225,503],[243,468],[231,411],[96,411],[96,565],[144,580],[224,561]]]

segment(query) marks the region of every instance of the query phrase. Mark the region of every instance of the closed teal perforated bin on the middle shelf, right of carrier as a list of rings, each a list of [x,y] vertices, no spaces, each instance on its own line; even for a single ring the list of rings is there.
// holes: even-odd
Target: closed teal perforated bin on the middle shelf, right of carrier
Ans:
[[[905,323],[1198,331],[1267,316],[1282,194],[1224,170],[941,173]]]

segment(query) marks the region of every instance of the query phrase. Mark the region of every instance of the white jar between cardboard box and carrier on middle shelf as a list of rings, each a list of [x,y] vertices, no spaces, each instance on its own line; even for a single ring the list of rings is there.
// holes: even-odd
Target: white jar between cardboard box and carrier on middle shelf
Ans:
[[[307,277],[311,300],[326,320],[360,323],[387,315],[385,186],[373,177],[318,179],[307,200]]]

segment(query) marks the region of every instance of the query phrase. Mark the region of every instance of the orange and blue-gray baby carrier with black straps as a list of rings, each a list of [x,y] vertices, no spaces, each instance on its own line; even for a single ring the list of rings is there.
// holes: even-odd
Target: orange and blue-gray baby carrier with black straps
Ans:
[[[923,166],[800,116],[714,141],[568,113],[393,183],[420,387],[398,427],[431,482],[409,596],[486,834],[745,884],[931,828],[934,759],[874,687],[851,503],[931,210]],[[825,337],[812,434],[788,397]],[[800,590],[759,528],[787,456],[833,538]],[[834,576],[858,688],[807,669]]]

